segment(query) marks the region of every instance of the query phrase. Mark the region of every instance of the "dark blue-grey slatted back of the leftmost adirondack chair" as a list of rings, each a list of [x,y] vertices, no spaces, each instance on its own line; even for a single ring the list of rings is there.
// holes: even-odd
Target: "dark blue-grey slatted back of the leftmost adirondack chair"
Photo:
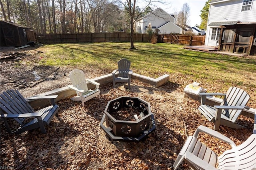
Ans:
[[[34,112],[34,109],[28,104],[18,90],[4,91],[0,97],[1,111],[4,111],[6,114],[23,114]],[[15,118],[15,120],[22,125],[24,118]]]

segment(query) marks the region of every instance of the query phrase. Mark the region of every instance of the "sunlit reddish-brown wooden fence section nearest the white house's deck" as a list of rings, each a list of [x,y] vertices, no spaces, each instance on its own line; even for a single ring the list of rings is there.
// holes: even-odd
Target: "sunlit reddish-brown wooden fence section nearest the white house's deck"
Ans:
[[[204,45],[205,36],[160,35],[164,43],[176,43],[183,45]]]

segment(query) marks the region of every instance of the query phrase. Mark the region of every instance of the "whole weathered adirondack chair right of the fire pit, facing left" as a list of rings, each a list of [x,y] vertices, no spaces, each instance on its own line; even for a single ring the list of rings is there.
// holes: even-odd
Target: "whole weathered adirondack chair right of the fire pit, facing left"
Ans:
[[[220,125],[231,128],[244,128],[235,122],[243,109],[250,109],[245,106],[250,99],[246,91],[237,87],[230,87],[226,94],[199,93],[199,95],[202,97],[202,100],[198,110],[206,119],[214,123],[214,130],[218,130]],[[223,95],[224,99],[220,106],[211,107],[204,104],[207,95]]]

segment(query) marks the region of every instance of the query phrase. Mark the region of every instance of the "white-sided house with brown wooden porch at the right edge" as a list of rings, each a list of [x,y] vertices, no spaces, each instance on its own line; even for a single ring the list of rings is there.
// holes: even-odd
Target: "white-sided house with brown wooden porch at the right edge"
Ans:
[[[256,0],[211,0],[205,45],[256,55]]]

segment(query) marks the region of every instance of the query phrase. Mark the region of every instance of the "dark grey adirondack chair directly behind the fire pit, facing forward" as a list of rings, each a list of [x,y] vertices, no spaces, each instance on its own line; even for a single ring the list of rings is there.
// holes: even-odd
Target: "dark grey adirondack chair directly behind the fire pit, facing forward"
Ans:
[[[127,82],[130,89],[132,70],[130,70],[131,62],[128,59],[120,59],[118,61],[118,69],[112,72],[113,86],[115,88],[116,82]],[[116,73],[118,72],[118,77]]]

